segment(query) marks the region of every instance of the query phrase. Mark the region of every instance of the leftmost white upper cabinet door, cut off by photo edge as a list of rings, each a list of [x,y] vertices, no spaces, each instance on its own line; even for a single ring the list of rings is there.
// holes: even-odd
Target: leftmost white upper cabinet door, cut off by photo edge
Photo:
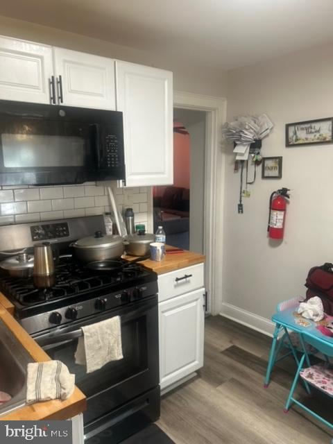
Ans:
[[[0,99],[51,103],[51,46],[0,37]]]

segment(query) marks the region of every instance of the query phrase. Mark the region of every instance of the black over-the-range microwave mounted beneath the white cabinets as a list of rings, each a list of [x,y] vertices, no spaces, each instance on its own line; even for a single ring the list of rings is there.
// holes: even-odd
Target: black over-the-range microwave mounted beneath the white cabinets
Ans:
[[[0,185],[125,180],[123,114],[0,101]]]

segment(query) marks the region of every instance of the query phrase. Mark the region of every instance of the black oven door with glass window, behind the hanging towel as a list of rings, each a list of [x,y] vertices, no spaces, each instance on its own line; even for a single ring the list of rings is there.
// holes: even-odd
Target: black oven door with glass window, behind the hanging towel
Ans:
[[[75,364],[74,359],[80,327],[118,315],[121,316],[123,359],[87,374],[86,367]],[[59,327],[34,339],[51,359],[62,361],[69,372],[76,375],[76,385],[87,396],[85,426],[158,385],[156,296],[92,316],[84,322],[76,321],[70,327]]]

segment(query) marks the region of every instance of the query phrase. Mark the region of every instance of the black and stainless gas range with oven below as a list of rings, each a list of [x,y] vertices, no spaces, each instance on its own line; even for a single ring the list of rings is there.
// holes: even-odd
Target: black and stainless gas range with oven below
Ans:
[[[63,234],[49,238],[60,250],[53,287],[37,289],[33,278],[1,275],[0,291],[51,359],[76,375],[87,396],[87,444],[105,434],[108,443],[120,443],[160,415],[157,275],[121,259],[113,271],[91,271],[69,254],[72,241],[103,230],[102,216],[41,223],[37,230],[54,232],[57,223],[67,230],[65,239]],[[0,227],[0,250],[32,249],[34,232],[32,223]],[[113,316],[121,318],[123,359],[87,373],[74,359],[81,327]]]

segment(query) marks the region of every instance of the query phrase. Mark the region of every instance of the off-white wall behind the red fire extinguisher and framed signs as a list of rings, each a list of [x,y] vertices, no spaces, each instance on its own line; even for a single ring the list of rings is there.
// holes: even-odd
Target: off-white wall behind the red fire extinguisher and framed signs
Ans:
[[[257,327],[265,328],[264,320],[244,310],[271,318],[279,301],[305,294],[311,266],[333,262],[333,144],[285,148],[284,140],[285,123],[332,116],[332,51],[333,45],[320,46],[228,74],[228,121],[266,112],[275,128],[262,154],[283,156],[282,180],[262,180],[260,171],[244,214],[237,214],[233,156],[226,162],[223,311]],[[291,188],[291,199],[284,241],[273,246],[268,198],[282,186]]]

